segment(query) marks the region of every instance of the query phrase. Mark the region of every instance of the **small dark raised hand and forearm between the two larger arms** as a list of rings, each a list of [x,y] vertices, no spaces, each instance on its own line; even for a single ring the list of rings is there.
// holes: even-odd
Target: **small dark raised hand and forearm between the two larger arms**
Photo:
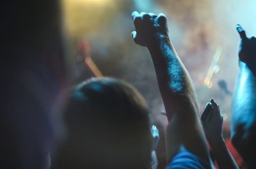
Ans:
[[[228,151],[227,145],[222,135],[223,117],[220,114],[219,106],[211,99],[207,103],[201,116],[204,126],[205,136],[211,146],[212,154],[216,159],[220,169],[239,169],[236,161]]]

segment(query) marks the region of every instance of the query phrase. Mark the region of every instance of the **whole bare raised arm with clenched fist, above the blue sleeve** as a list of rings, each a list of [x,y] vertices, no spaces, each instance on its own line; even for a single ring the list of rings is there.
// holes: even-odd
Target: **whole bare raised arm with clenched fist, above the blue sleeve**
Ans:
[[[168,163],[181,147],[209,161],[204,131],[197,117],[195,91],[168,37],[166,17],[163,13],[134,11],[132,18],[136,29],[132,37],[150,52],[169,121],[166,131]]]

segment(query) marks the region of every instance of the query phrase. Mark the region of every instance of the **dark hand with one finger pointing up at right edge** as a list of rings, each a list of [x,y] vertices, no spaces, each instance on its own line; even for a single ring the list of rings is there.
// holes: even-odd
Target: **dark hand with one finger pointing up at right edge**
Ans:
[[[247,38],[246,33],[240,25],[236,26],[237,32],[240,35],[240,47],[239,47],[239,60],[245,62],[256,70],[256,38]]]

